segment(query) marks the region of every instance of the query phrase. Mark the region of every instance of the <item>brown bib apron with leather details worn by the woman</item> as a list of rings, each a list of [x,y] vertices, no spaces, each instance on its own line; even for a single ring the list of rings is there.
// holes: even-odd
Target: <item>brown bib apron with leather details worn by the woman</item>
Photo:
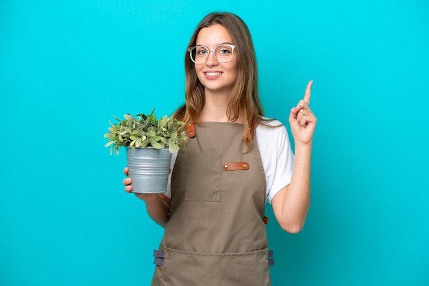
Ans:
[[[170,217],[151,285],[271,285],[265,172],[243,125],[192,125],[171,179]],[[158,259],[158,262],[157,262]]]

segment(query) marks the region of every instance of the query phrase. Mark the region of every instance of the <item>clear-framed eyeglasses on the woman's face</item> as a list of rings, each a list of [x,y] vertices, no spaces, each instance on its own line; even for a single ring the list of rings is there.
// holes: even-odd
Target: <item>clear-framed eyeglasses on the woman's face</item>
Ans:
[[[234,55],[234,44],[218,44],[213,49],[208,49],[206,46],[195,46],[188,49],[191,60],[195,64],[204,64],[208,58],[210,51],[215,55],[218,62],[229,62]]]

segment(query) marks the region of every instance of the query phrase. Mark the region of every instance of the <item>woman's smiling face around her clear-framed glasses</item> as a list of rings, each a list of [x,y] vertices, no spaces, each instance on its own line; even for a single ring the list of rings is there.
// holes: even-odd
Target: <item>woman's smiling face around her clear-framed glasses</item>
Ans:
[[[213,49],[219,44],[234,44],[230,33],[222,25],[215,24],[201,29],[197,36],[197,45]],[[227,93],[234,88],[238,75],[236,53],[229,62],[219,62],[210,51],[204,64],[195,64],[195,71],[199,81],[204,86],[206,94]]]

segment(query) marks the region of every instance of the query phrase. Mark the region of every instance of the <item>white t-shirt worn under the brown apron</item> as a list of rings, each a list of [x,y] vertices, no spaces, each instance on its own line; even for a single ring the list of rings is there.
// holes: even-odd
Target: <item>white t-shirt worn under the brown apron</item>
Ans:
[[[267,124],[278,126],[282,123],[278,120],[272,120],[267,122]],[[289,142],[289,135],[284,125],[271,128],[258,125],[256,127],[256,140],[265,171],[267,200],[271,203],[273,196],[291,183],[295,157],[291,149],[291,143]],[[176,157],[177,151],[171,157],[171,171],[173,171]],[[164,195],[171,198],[171,173],[169,175],[167,192]]]

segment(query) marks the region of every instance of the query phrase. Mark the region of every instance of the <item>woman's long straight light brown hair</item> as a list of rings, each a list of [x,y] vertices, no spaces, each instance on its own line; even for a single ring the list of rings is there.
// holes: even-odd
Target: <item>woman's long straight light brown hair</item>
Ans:
[[[227,108],[228,119],[232,122],[238,117],[243,119],[244,131],[243,140],[247,144],[246,151],[252,145],[251,128],[256,127],[263,120],[264,112],[259,100],[258,93],[258,66],[252,36],[244,21],[235,14],[228,12],[213,12],[204,17],[194,31],[188,48],[195,46],[197,36],[201,29],[220,24],[230,33],[232,43],[236,46],[238,63],[238,75],[232,91],[232,98]],[[174,116],[189,124],[201,124],[199,113],[204,107],[205,95],[204,86],[201,84],[195,71],[194,63],[185,54],[185,104],[175,111]],[[245,152],[246,152],[245,151]]]

